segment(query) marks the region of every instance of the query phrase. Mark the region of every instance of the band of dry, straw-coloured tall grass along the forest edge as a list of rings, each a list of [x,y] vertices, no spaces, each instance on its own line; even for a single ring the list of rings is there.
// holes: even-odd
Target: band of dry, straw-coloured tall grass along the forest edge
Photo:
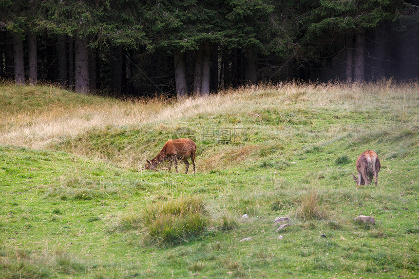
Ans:
[[[30,98],[38,91],[48,91],[51,96],[70,94],[52,86],[0,85],[0,100],[4,101],[11,94],[20,94],[22,99]],[[418,96],[418,82],[396,84],[383,80],[362,84],[289,82],[258,85],[224,90],[209,97],[194,97],[182,102],[158,98],[120,101],[97,97],[97,102],[89,104],[57,102],[47,110],[1,111],[0,144],[43,149],[60,137],[76,136],[91,128],[144,123],[175,125],[180,119],[185,121],[198,115],[227,113],[256,117],[254,114],[264,109],[308,107],[363,111],[391,108],[395,117],[403,121],[412,117],[410,113],[418,106]]]

